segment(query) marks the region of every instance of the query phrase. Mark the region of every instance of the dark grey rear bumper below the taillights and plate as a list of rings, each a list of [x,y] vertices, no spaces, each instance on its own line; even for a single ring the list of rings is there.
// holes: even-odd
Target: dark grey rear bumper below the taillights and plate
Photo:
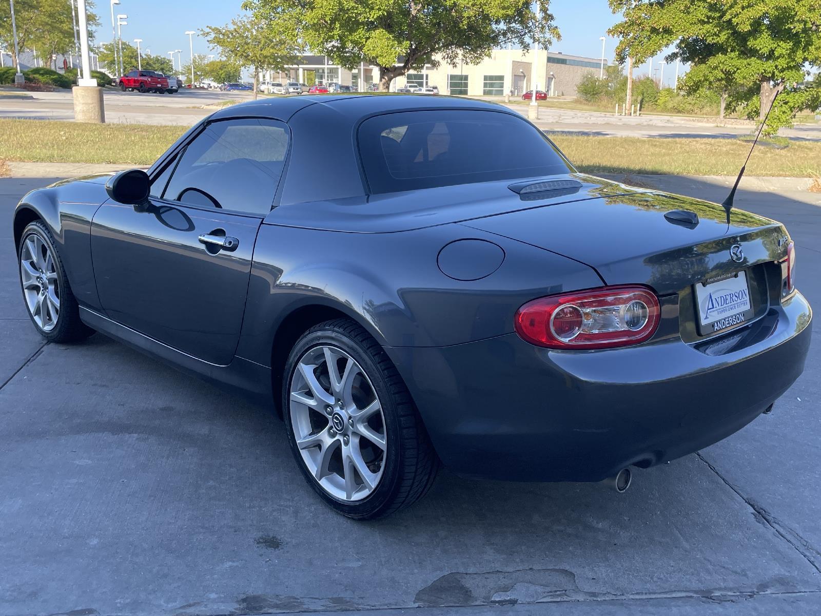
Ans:
[[[556,352],[515,333],[385,350],[453,471],[598,481],[634,464],[693,453],[750,423],[804,370],[811,319],[809,304],[796,294],[738,330],[746,332],[736,345],[743,348],[722,355],[679,338]]]

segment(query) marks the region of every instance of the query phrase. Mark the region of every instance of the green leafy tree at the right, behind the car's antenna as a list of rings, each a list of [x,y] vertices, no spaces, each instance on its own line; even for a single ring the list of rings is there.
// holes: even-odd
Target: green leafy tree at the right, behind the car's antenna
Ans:
[[[746,98],[748,113],[764,120],[778,93],[766,132],[789,125],[814,99],[804,84],[821,66],[821,0],[609,0],[622,21],[609,33],[621,40],[617,58],[638,62],[674,45],[667,61],[690,62],[692,80]],[[697,67],[697,68],[696,68]],[[754,100],[757,99],[757,100]]]

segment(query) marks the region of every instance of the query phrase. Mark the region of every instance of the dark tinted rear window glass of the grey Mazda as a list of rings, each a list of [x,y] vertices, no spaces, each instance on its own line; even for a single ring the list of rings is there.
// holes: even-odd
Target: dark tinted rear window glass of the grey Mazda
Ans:
[[[541,131],[508,113],[388,113],[362,122],[358,139],[372,194],[570,171]]]

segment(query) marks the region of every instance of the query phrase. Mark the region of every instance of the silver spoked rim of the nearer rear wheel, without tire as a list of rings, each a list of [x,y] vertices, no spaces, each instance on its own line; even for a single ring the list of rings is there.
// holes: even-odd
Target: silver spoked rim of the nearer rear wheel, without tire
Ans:
[[[325,492],[353,503],[376,490],[388,453],[385,417],[350,355],[331,346],[306,351],[291,377],[289,412],[302,461]]]

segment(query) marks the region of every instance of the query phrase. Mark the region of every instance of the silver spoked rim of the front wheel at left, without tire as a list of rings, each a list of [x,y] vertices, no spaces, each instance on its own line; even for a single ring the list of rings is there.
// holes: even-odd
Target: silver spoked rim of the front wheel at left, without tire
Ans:
[[[20,278],[25,304],[34,323],[44,332],[52,331],[60,315],[57,264],[51,249],[36,233],[30,233],[23,240]]]

